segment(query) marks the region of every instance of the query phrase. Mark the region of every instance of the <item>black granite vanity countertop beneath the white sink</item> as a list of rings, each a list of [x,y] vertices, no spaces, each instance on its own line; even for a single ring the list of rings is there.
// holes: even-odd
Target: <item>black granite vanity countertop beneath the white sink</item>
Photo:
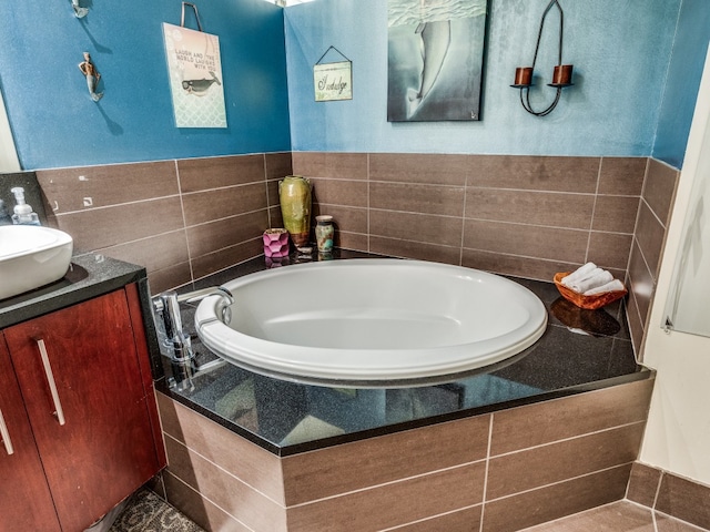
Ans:
[[[0,300],[0,329],[116,290],[145,283],[145,268],[103,255],[75,253],[67,275],[36,290]]]

